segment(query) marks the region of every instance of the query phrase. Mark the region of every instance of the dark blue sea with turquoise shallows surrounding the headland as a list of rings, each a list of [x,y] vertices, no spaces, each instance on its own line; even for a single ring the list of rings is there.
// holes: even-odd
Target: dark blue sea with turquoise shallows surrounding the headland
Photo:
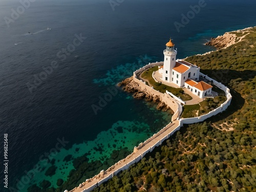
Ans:
[[[0,191],[43,180],[56,188],[72,159],[133,152],[172,115],[117,83],[162,61],[169,38],[177,58],[215,50],[204,43],[255,26],[255,8],[252,0],[0,0]],[[46,176],[52,159],[56,172]]]

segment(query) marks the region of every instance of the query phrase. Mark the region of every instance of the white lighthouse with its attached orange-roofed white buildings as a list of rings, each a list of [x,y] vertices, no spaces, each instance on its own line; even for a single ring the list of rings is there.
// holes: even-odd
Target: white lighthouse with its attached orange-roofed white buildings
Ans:
[[[197,82],[199,81],[200,67],[181,59],[176,60],[177,50],[174,49],[171,39],[167,42],[163,54],[163,66],[159,67],[163,81],[175,83],[180,88],[188,88],[200,98],[211,94],[212,86],[203,81]]]

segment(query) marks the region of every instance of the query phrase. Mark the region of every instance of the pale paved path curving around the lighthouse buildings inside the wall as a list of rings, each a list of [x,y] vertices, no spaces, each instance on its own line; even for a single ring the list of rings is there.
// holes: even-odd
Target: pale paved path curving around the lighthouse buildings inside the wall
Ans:
[[[179,86],[177,86],[177,84],[172,83],[172,82],[166,82],[162,79],[162,74],[159,73],[159,71],[156,71],[155,74],[153,75],[153,77],[157,80],[162,82],[163,84],[166,84],[167,86],[173,87],[173,88],[180,88]],[[191,100],[185,101],[185,104],[190,105],[190,104],[197,104],[200,103],[201,101],[203,101],[204,99],[198,97],[197,95],[194,95],[193,93],[191,93],[189,91],[189,89],[187,88],[183,88],[184,93],[188,94],[190,97],[192,97]]]

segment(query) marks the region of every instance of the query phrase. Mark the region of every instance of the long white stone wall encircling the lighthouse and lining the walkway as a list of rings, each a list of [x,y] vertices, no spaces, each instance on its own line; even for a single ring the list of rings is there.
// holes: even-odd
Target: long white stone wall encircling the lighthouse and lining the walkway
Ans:
[[[146,92],[151,93],[151,94],[157,94],[157,95],[159,95],[159,96],[161,97],[161,99],[162,99],[161,101],[165,102],[168,106],[170,106],[170,108],[172,108],[172,109],[174,110],[175,114],[173,115],[173,117],[175,116],[175,117],[174,117],[175,119],[172,118],[172,120],[176,120],[176,119],[178,119],[179,115],[180,115],[181,112],[182,112],[182,106],[180,105],[180,103],[178,103],[177,101],[175,101],[175,99],[172,98],[172,97],[170,97],[170,95],[168,95],[168,94],[166,94],[166,93],[165,93],[165,94],[162,94],[162,93],[160,93],[160,92],[158,92],[158,91],[156,91],[156,90],[150,88],[149,86],[146,86],[146,84],[145,84],[144,82],[142,82],[142,81],[140,81],[139,79],[137,79],[137,74],[138,74],[139,72],[144,71],[144,70],[147,69],[147,68],[155,67],[155,66],[162,65],[162,64],[163,64],[163,62],[150,63],[150,64],[144,66],[143,68],[137,70],[136,72],[134,72],[134,76],[133,76],[133,77],[134,77],[134,80],[139,83],[139,85],[141,86],[141,88],[142,88],[143,90],[145,90]],[[220,89],[222,89],[223,91],[225,91],[227,100],[226,100],[224,103],[222,103],[221,106],[219,106],[219,108],[217,108],[217,109],[215,109],[215,110],[209,112],[209,113],[206,114],[206,115],[202,115],[202,116],[199,116],[199,117],[194,117],[194,118],[182,118],[182,119],[179,119],[179,124],[178,124],[178,126],[175,127],[175,129],[174,129],[172,132],[170,132],[170,133],[168,133],[168,134],[166,135],[166,134],[163,134],[163,133],[164,133],[164,130],[168,129],[168,127],[169,127],[172,123],[167,124],[167,125],[166,125],[165,127],[163,127],[163,129],[160,130],[158,133],[154,134],[152,137],[148,138],[148,139],[147,139],[146,141],[144,141],[143,143],[140,143],[138,147],[135,147],[135,150],[134,150],[134,152],[133,152],[131,155],[129,155],[129,156],[127,156],[126,158],[124,158],[124,159],[118,161],[115,165],[113,165],[113,166],[111,166],[110,168],[108,168],[108,169],[104,172],[104,174],[106,174],[106,175],[104,175],[104,178],[101,179],[101,180],[99,180],[99,181],[97,182],[97,184],[88,185],[89,182],[86,181],[86,182],[83,182],[82,185],[86,185],[86,184],[87,184],[87,185],[88,185],[88,188],[83,189],[83,190],[82,190],[82,189],[79,190],[79,187],[76,187],[76,188],[70,190],[69,192],[72,192],[72,191],[75,191],[75,190],[77,191],[77,189],[78,189],[80,192],[81,192],[81,191],[84,191],[84,192],[90,192],[90,191],[92,191],[95,187],[97,187],[97,185],[99,186],[99,185],[102,184],[103,182],[108,181],[109,179],[113,178],[113,176],[117,175],[117,174],[118,174],[119,172],[121,172],[122,170],[125,170],[125,169],[129,168],[132,164],[139,162],[139,161],[145,156],[145,154],[147,154],[147,153],[149,153],[149,152],[152,152],[156,146],[161,145],[164,140],[168,139],[168,138],[169,138],[170,136],[172,136],[176,131],[180,130],[180,127],[182,127],[183,124],[190,124],[190,123],[201,122],[201,121],[204,121],[205,119],[207,119],[207,118],[209,118],[209,117],[211,117],[211,116],[217,115],[218,113],[221,113],[221,112],[225,111],[225,110],[227,109],[228,105],[230,104],[231,99],[232,99],[232,96],[231,96],[231,94],[230,94],[229,89],[228,89],[227,87],[225,87],[222,83],[220,83],[220,82],[218,82],[218,81],[216,81],[216,80],[214,80],[214,79],[211,79],[210,77],[207,77],[206,75],[204,75],[204,74],[202,74],[202,73],[200,73],[200,75],[205,76],[205,78],[208,79],[208,80],[210,80],[210,81],[213,81],[214,84],[215,84],[218,88],[220,88]],[[162,136],[162,137],[160,137],[160,139],[159,139],[158,142],[152,144],[151,147],[149,147],[149,148],[143,148],[143,147],[145,146],[145,144],[151,142],[154,138],[156,138],[156,137],[158,137],[158,136]],[[143,152],[142,152],[141,154],[135,154],[136,151],[141,150],[141,149],[143,149]],[[116,169],[116,170],[114,170],[114,171],[112,172],[112,169],[113,169],[114,167],[118,166],[119,164],[121,164],[121,163],[123,163],[123,162],[125,162],[125,164],[124,164],[123,166],[121,166],[120,168],[118,168],[118,169]],[[97,179],[97,178],[99,178],[99,177],[100,177],[100,174],[94,176],[94,177],[93,177],[92,179],[90,179],[90,180],[92,181],[93,179]]]

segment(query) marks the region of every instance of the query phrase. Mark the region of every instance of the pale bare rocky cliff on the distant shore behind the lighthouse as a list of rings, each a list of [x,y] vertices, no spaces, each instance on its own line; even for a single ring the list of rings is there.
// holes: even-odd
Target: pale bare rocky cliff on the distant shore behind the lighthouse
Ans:
[[[227,48],[237,42],[244,40],[244,37],[251,32],[252,27],[242,30],[226,32],[223,35],[219,35],[216,38],[211,38],[205,45],[214,46],[218,49]]]

